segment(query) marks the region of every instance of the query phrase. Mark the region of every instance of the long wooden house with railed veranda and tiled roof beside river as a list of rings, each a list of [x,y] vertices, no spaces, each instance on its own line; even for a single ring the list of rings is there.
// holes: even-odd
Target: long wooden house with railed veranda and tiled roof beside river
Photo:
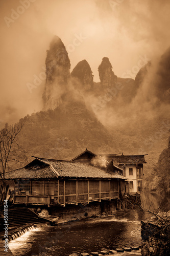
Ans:
[[[125,193],[120,173],[76,161],[35,159],[6,173],[13,204],[60,205],[117,200]],[[119,174],[118,174],[119,172]]]

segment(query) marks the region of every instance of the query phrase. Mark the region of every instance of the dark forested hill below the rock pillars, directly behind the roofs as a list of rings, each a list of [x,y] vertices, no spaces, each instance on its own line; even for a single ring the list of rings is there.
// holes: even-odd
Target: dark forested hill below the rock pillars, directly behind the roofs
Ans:
[[[113,152],[114,139],[83,101],[75,100],[71,93],[62,100],[55,110],[40,111],[20,119],[25,122],[20,142],[29,160],[31,155],[71,159],[86,148],[95,153]]]

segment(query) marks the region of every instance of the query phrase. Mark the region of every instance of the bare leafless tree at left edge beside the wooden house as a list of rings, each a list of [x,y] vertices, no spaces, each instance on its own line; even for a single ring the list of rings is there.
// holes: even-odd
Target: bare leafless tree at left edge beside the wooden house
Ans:
[[[18,134],[22,129],[23,123],[13,125],[6,124],[0,131],[0,205],[3,203],[7,194],[5,173],[10,169],[12,163],[23,163],[27,160],[25,151],[19,145]]]

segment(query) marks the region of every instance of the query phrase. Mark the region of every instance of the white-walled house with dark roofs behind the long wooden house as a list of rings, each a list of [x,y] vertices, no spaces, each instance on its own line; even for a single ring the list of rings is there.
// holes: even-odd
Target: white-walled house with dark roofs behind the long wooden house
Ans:
[[[126,193],[129,191],[131,194],[140,194],[143,186],[143,163],[147,163],[144,159],[146,155],[95,155],[86,149],[86,151],[72,159],[72,161],[91,162],[94,166],[105,167],[107,170],[112,170],[113,173],[115,170],[115,172],[127,178],[128,184],[125,184]]]

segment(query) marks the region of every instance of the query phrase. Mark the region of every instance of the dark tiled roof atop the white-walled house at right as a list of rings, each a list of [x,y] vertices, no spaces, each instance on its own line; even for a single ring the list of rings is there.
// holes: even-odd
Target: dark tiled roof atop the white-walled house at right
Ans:
[[[144,159],[144,155],[136,155],[136,156],[113,156],[113,164],[120,164],[120,163],[129,163],[129,164],[142,164],[142,163],[146,163],[145,159]]]

